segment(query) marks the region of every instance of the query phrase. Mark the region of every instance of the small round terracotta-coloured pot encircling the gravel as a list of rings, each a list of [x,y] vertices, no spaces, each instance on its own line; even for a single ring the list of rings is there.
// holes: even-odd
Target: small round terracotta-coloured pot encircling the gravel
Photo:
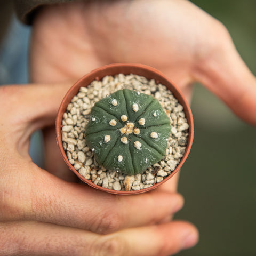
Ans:
[[[179,103],[183,106],[183,111],[185,112],[185,115],[186,115],[186,118],[187,118],[187,121],[188,121],[188,124],[189,124],[189,136],[188,136],[186,151],[185,151],[180,163],[175,168],[175,170],[172,171],[172,173],[169,176],[167,176],[163,181],[161,181],[159,183],[155,183],[155,184],[153,184],[153,186],[151,186],[149,188],[141,189],[141,190],[116,191],[116,190],[113,190],[113,189],[103,188],[101,186],[95,185],[92,181],[85,179],[81,174],[79,174],[79,172],[75,170],[73,165],[71,165],[69,163],[67,155],[65,153],[65,150],[63,149],[63,146],[62,146],[63,143],[62,143],[62,139],[61,139],[61,128],[62,128],[63,114],[65,113],[66,108],[67,108],[68,104],[70,103],[71,99],[73,99],[73,97],[75,95],[77,95],[77,93],[79,92],[80,87],[82,87],[82,86],[87,87],[92,81],[94,81],[94,80],[99,81],[107,75],[108,76],[114,76],[114,75],[120,74],[120,73],[122,73],[124,75],[136,74],[136,75],[144,76],[148,80],[155,79],[157,84],[161,83],[161,84],[165,85],[167,87],[167,89],[169,89],[172,92],[174,97],[176,99],[178,99]],[[175,86],[170,81],[169,78],[164,76],[160,71],[158,71],[154,68],[145,66],[145,65],[118,63],[118,64],[111,64],[111,65],[103,66],[103,67],[92,70],[89,74],[87,74],[87,75],[83,76],[81,79],[79,79],[68,90],[68,92],[66,93],[65,97],[63,98],[63,100],[61,102],[61,105],[60,105],[60,108],[59,108],[59,111],[58,111],[58,115],[57,115],[57,119],[56,119],[56,134],[57,134],[57,144],[60,148],[60,153],[61,153],[64,161],[68,165],[69,169],[72,170],[79,177],[79,179],[81,179],[82,181],[84,181],[85,183],[87,183],[88,185],[90,185],[90,186],[92,186],[96,189],[106,191],[108,193],[119,194],[119,195],[120,194],[122,194],[122,195],[131,195],[131,194],[143,193],[143,192],[155,189],[158,186],[161,186],[164,182],[171,179],[173,177],[173,175],[180,170],[180,167],[186,161],[186,159],[188,157],[188,154],[189,154],[189,151],[190,151],[191,146],[192,146],[193,137],[194,137],[194,123],[193,123],[193,117],[192,117],[191,109],[188,105],[187,100],[185,99],[185,97],[181,93],[179,87]]]

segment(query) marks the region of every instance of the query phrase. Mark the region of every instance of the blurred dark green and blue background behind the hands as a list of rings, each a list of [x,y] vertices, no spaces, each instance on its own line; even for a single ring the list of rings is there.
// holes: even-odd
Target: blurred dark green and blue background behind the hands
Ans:
[[[256,1],[191,2],[224,23],[255,75]],[[28,82],[29,35],[30,28],[13,15],[0,47],[0,85]],[[185,207],[175,219],[193,222],[201,238],[193,249],[178,255],[256,255],[256,129],[200,84],[195,86],[191,108],[195,138],[180,172],[179,192],[185,197]],[[38,141],[40,132],[31,140],[30,154],[42,166],[43,151],[34,146]]]

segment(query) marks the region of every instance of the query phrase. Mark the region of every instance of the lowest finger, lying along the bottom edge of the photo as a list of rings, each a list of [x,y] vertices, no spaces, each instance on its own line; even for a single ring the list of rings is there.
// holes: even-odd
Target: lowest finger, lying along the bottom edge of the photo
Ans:
[[[167,256],[194,246],[198,240],[196,228],[181,221],[105,236],[42,222],[9,222],[0,227],[4,256]]]

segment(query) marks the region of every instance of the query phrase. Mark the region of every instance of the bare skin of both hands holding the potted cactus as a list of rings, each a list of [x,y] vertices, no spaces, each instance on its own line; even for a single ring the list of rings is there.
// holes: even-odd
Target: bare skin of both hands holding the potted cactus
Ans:
[[[66,170],[51,127],[67,81],[113,62],[161,70],[188,101],[199,81],[256,124],[255,77],[226,28],[194,4],[120,0],[42,8],[31,36],[36,84],[0,88],[1,255],[158,256],[197,243],[193,225],[170,221],[183,204],[178,175],[150,193],[116,196],[74,183]],[[37,129],[44,129],[45,170],[28,155]]]

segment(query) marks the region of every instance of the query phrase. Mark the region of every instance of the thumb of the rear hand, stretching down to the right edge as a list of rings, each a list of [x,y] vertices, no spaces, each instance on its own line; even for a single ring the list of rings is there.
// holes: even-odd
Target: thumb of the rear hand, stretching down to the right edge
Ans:
[[[238,54],[227,29],[200,57],[195,79],[222,99],[245,122],[256,125],[256,78]]]

